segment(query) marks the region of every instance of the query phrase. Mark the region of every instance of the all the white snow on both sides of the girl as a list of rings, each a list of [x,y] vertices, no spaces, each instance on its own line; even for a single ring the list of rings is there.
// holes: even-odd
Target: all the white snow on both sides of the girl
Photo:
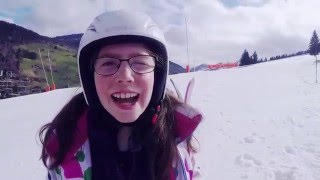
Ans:
[[[315,83],[314,57],[170,78],[184,91],[192,77],[191,104],[205,117],[195,133],[201,179],[320,179],[320,84]],[[77,91],[0,101],[2,179],[44,179],[38,130]]]

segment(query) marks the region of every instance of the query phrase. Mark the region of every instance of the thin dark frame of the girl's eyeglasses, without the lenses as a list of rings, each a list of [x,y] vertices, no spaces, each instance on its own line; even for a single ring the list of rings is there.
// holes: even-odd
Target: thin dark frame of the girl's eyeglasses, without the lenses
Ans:
[[[136,72],[135,70],[132,69],[130,60],[131,60],[132,58],[139,57],[139,56],[149,56],[149,57],[152,57],[152,59],[153,59],[153,61],[154,61],[154,66],[153,66],[153,68],[152,68],[151,71],[144,72],[144,73],[139,73],[139,72]],[[116,71],[115,71],[114,73],[108,74],[108,75],[104,75],[104,74],[98,73],[98,72],[96,71],[96,66],[95,66],[96,61],[99,60],[99,59],[103,59],[103,58],[111,58],[111,59],[119,60],[120,63],[119,63],[119,65],[117,65],[117,69],[116,69]],[[93,62],[94,62],[94,63],[93,63],[93,70],[94,70],[95,73],[97,73],[97,74],[100,75],[100,76],[112,76],[112,75],[116,74],[116,73],[119,71],[120,66],[121,66],[121,63],[124,62],[124,61],[126,61],[126,62],[128,62],[128,65],[129,65],[130,69],[131,69],[134,73],[137,73],[137,74],[147,74],[147,73],[151,73],[151,72],[153,72],[153,71],[155,70],[155,67],[156,67],[156,64],[157,64],[158,59],[159,59],[158,56],[155,56],[155,55],[152,55],[152,54],[145,54],[145,55],[144,55],[144,54],[139,54],[139,55],[135,55],[135,56],[132,56],[132,57],[130,57],[130,58],[127,58],[127,59],[120,59],[120,58],[116,58],[116,57],[106,56],[106,57],[101,57],[101,58],[96,58],[96,59],[94,59],[94,61],[93,61]]]

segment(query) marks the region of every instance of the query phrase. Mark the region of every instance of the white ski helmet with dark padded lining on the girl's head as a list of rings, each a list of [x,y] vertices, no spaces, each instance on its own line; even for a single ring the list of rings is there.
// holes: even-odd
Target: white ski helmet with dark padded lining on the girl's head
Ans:
[[[164,35],[157,24],[142,12],[118,10],[97,16],[81,38],[78,50],[80,83],[87,104],[98,101],[93,79],[92,56],[101,46],[115,43],[142,43],[159,58],[156,61],[155,83],[150,104],[158,105],[164,98],[169,72]]]

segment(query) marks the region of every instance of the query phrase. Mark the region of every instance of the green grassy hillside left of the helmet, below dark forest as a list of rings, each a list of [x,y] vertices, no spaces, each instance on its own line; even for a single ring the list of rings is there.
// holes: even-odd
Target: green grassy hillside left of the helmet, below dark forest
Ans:
[[[48,52],[51,60],[51,67],[53,73],[53,81],[57,88],[72,87],[79,85],[78,72],[77,72],[77,61],[76,61],[76,50],[55,45],[55,44],[44,44],[44,43],[31,43],[26,45],[20,45],[18,48],[25,49],[29,52],[37,53],[36,59],[23,58],[20,62],[20,73],[21,75],[38,79],[33,81],[30,86],[41,86],[46,85],[45,74],[42,69],[42,63],[39,56],[40,49],[43,65],[46,70],[46,75],[49,84],[52,83],[52,77],[50,72],[50,65],[48,60]]]

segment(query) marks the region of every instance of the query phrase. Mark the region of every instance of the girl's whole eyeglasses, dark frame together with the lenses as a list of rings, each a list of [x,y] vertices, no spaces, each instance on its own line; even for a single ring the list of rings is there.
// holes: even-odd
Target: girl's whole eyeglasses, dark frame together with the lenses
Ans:
[[[127,61],[132,71],[138,74],[150,73],[155,68],[156,57],[152,55],[138,55],[129,59],[118,59],[113,57],[103,57],[95,60],[94,71],[103,76],[115,74],[121,62]]]

